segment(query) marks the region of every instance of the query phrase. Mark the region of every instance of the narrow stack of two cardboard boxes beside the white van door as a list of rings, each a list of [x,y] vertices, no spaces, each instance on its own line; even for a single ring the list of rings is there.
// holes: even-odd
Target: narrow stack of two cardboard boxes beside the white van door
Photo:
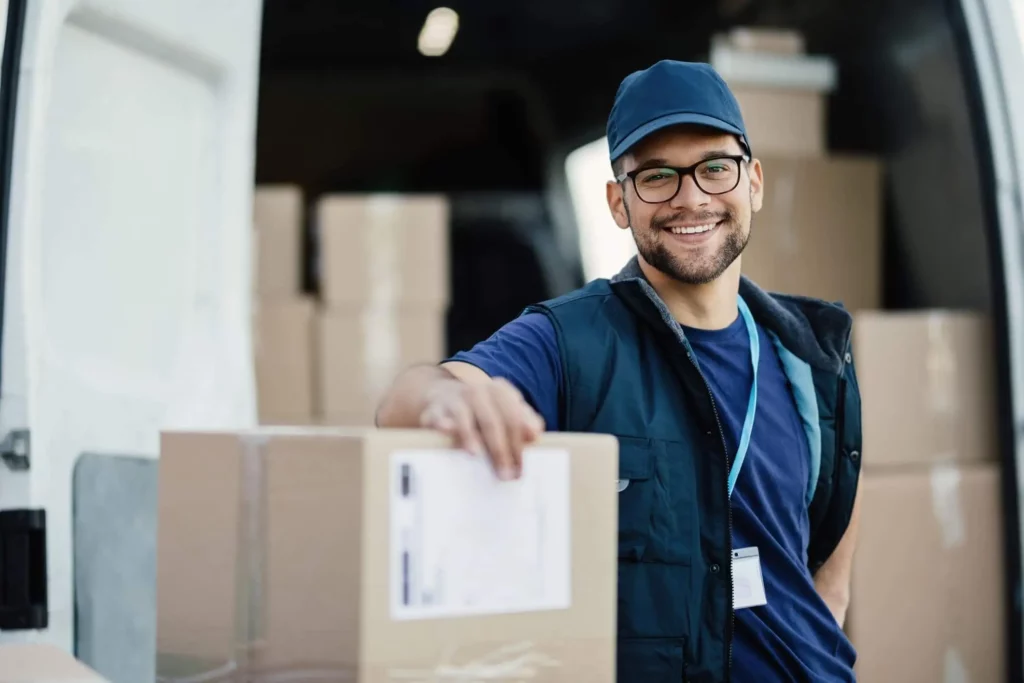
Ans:
[[[253,201],[253,353],[261,424],[310,424],[315,303],[302,293],[302,191],[256,188]]]

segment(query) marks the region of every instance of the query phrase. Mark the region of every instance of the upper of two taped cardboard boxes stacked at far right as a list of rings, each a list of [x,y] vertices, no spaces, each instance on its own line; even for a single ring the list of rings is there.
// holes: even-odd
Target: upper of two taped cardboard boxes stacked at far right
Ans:
[[[987,316],[865,311],[854,318],[864,466],[997,457]]]

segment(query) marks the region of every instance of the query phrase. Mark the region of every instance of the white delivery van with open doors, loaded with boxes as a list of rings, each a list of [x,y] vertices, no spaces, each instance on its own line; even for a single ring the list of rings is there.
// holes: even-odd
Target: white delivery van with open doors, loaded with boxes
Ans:
[[[462,4],[428,57],[414,1],[0,0],[0,642],[153,679],[140,463],[161,429],[255,422],[254,182],[456,198],[453,278],[501,302],[455,289],[464,347],[588,274],[564,162],[618,80],[765,23],[838,63],[829,145],[886,159],[887,306],[996,322],[1020,680],[1024,0]],[[516,249],[506,296],[481,264]]]

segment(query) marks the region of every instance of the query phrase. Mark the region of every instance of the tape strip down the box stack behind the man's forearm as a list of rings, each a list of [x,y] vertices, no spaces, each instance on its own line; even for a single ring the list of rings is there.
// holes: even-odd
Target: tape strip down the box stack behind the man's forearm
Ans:
[[[398,197],[378,195],[367,200],[371,234],[366,241],[370,301],[361,317],[366,398],[376,402],[394,380],[401,358],[398,301],[401,294],[402,204]]]

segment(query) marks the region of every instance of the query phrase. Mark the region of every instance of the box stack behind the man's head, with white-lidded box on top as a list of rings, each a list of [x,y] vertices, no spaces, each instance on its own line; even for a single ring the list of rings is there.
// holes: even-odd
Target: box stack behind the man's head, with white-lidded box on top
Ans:
[[[713,41],[711,63],[739,101],[764,172],[743,273],[763,288],[878,308],[882,168],[826,150],[836,68],[803,53],[800,34],[739,29]]]

